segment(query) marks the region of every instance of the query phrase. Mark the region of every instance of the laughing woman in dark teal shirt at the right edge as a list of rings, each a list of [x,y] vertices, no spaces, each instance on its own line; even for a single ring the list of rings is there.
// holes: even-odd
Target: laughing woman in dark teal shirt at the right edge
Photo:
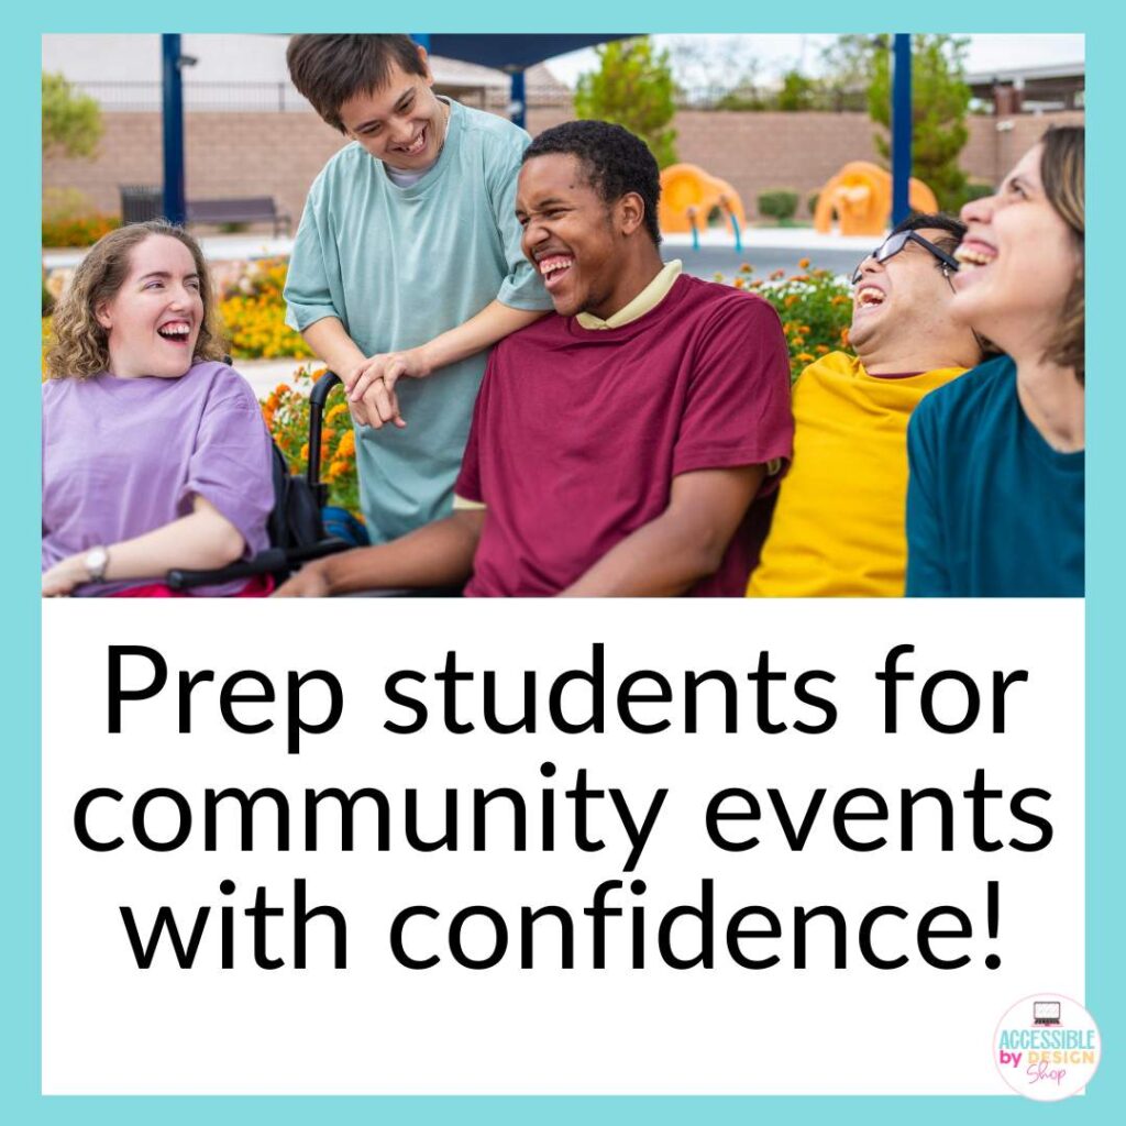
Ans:
[[[1083,595],[1083,129],[1049,129],[967,204],[960,318],[1008,355],[911,419],[909,596]]]

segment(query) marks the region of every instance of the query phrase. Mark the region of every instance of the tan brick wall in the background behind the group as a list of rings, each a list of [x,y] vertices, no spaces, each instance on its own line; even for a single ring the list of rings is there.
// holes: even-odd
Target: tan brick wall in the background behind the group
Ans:
[[[535,134],[568,120],[569,106],[531,107]],[[119,209],[119,184],[161,181],[160,117],[107,113],[97,160],[44,161],[45,187],[78,187],[97,211]],[[1051,123],[1082,123],[1083,114],[1049,117],[973,117],[962,164],[972,179],[999,181]],[[680,159],[730,180],[749,212],[770,188],[804,200],[849,160],[875,160],[876,126],[865,114],[751,114],[681,110],[673,123]],[[1001,126],[999,129],[998,126]],[[187,194],[274,196],[300,217],[305,193],[324,162],[343,143],[312,113],[189,113],[185,115]]]

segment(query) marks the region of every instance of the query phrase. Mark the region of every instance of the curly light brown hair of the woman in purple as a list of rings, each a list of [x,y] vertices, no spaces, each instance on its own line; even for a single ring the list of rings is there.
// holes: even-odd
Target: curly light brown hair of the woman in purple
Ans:
[[[133,248],[161,234],[182,242],[191,252],[199,275],[204,315],[196,341],[197,360],[223,359],[225,341],[220,329],[215,288],[199,243],[182,227],[164,220],[133,223],[99,239],[82,259],[66,292],[55,306],[55,342],[47,352],[52,379],[87,379],[109,366],[109,336],[98,322],[97,311],[117,295],[129,272]]]

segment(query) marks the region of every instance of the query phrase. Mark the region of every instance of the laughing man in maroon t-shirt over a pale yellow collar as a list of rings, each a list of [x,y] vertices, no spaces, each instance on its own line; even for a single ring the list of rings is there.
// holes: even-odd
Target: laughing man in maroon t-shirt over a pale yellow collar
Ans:
[[[786,342],[767,302],[662,263],[659,193],[620,126],[531,143],[517,214],[558,315],[493,350],[453,515],[279,593],[743,593],[790,456]]]

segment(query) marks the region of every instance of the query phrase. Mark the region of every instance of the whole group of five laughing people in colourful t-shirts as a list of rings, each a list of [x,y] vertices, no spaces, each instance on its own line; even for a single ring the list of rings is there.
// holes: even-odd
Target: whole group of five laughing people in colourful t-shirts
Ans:
[[[345,385],[367,543],[223,571],[275,538],[276,455],[198,240],[154,218],[54,311],[44,596],[1083,595],[1082,125],[874,239],[847,346],[793,379],[759,293],[662,256],[631,129],[529,136],[437,95],[404,35],[286,57],[347,142],[285,302]]]

